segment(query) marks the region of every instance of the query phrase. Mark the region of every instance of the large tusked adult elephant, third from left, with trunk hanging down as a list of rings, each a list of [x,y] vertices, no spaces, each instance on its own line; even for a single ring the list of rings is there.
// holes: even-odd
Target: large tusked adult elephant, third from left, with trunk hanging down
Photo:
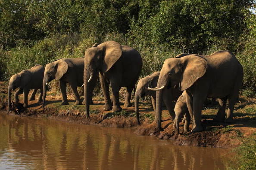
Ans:
[[[100,83],[104,94],[104,110],[119,112],[119,90],[127,88],[125,107],[130,107],[131,92],[141,72],[142,59],[137,50],[121,46],[115,41],[96,43],[84,54],[84,100],[87,117],[89,115],[89,91],[91,79],[100,72]],[[112,89],[112,103],[109,97],[109,84]]]

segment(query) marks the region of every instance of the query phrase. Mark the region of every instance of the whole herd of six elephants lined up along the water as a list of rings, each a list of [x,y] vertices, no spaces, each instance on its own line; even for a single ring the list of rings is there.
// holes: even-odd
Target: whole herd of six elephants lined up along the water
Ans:
[[[131,107],[131,92],[135,91],[134,104],[137,122],[140,124],[139,99],[151,96],[155,121],[161,130],[162,101],[172,117],[173,127],[179,133],[179,122],[185,115],[184,132],[203,131],[201,112],[206,97],[217,98],[219,110],[215,121],[231,121],[234,104],[237,100],[243,81],[243,67],[237,58],[229,51],[217,51],[211,55],[180,54],[168,58],[162,69],[149,76],[141,78],[137,83],[142,69],[142,58],[137,50],[120,45],[114,41],[95,43],[85,51],[82,58],[62,58],[49,63],[45,68],[36,65],[23,70],[11,77],[8,86],[8,106],[11,110],[11,91],[19,88],[14,94],[18,102],[19,94],[24,94],[24,107],[28,106],[28,93],[34,90],[29,100],[34,100],[37,89],[40,89],[38,101],[44,108],[47,82],[59,80],[62,93],[62,105],[67,105],[66,84],[69,83],[75,97],[75,104],[80,105],[77,87],[84,86],[84,103],[87,117],[92,101],[93,89],[100,78],[104,95],[103,110],[120,112],[119,90],[126,87],[125,107]],[[137,88],[135,85],[137,83]],[[109,96],[109,85],[112,96]],[[228,112],[225,107],[228,100]]]

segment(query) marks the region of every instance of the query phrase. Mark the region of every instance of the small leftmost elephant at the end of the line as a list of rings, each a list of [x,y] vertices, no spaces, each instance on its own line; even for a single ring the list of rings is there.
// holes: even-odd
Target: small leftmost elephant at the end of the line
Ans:
[[[14,74],[8,86],[8,109],[11,110],[11,91],[19,88],[14,94],[14,101],[19,102],[19,94],[23,93],[23,107],[28,107],[28,93],[31,89],[34,91],[31,94],[29,100],[34,100],[37,89],[40,89],[40,95],[38,102],[42,101],[43,92],[43,78],[44,78],[44,67],[42,65],[35,65],[28,70],[22,70],[20,73]]]

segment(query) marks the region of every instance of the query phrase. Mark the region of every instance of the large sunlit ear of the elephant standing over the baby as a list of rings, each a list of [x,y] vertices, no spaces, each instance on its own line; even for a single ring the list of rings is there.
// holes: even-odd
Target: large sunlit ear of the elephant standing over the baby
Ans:
[[[198,55],[184,56],[181,58],[181,61],[183,62],[183,75],[179,89],[184,91],[205,74],[207,61]]]

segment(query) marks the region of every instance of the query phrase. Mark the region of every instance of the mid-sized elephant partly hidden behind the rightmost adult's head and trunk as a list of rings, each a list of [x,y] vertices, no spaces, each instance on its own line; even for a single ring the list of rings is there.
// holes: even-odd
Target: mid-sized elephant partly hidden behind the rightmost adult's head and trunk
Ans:
[[[144,96],[151,96],[151,102],[153,105],[154,112],[156,112],[156,91],[150,91],[148,88],[156,87],[160,72],[154,72],[153,74],[141,78],[137,84],[136,92],[134,95],[135,112],[137,116],[137,122],[140,124],[139,115],[139,98]],[[165,89],[163,92],[162,100],[165,103],[166,108],[169,111],[172,120],[175,119],[174,106],[175,101],[181,95],[181,91],[175,88]],[[165,95],[166,94],[166,95]]]

